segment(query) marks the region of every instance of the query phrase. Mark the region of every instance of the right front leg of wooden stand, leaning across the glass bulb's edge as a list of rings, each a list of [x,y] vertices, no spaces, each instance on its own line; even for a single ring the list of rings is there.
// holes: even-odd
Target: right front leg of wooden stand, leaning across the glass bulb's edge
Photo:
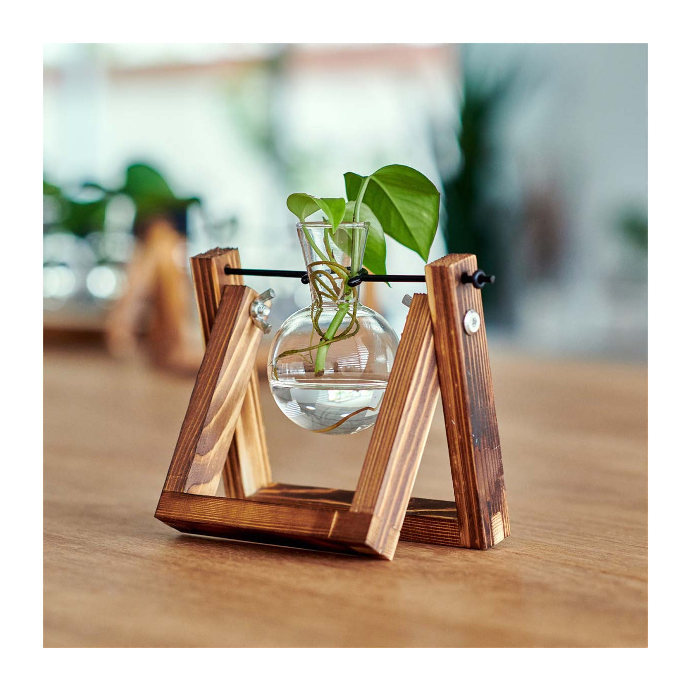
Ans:
[[[368,544],[393,558],[439,396],[427,296],[408,310],[350,511],[372,513]]]

